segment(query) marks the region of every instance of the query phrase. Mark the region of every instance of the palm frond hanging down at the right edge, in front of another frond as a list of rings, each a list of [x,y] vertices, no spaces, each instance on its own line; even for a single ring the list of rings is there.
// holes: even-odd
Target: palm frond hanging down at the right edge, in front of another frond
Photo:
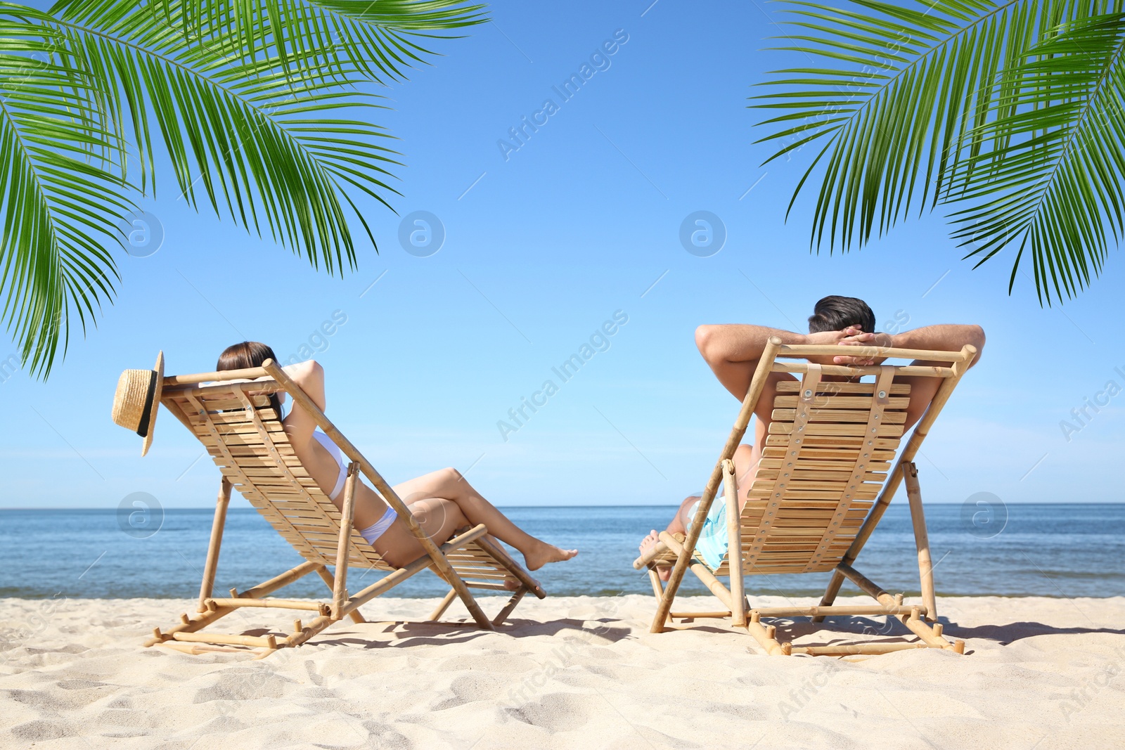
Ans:
[[[1041,300],[1073,297],[1104,266],[1125,226],[1125,13],[1077,20],[1006,72],[993,97],[1004,114],[965,135],[993,144],[951,170],[954,238],[978,265],[1017,245]],[[984,238],[979,241],[978,238]]]

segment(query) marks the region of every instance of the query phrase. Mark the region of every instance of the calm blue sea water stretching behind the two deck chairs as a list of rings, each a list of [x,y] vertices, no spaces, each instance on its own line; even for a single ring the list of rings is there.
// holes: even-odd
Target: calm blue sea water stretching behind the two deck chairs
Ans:
[[[537,576],[550,594],[648,594],[644,571],[632,569],[640,537],[663,528],[672,507],[504,508],[530,533],[579,555]],[[1125,595],[1125,504],[1020,504],[982,517],[975,508],[932,505],[926,509],[937,590],[945,595]],[[974,515],[975,514],[975,515]],[[0,597],[194,597],[210,510],[165,510],[151,536],[130,528],[116,510],[0,510]],[[1001,528],[1002,526],[1002,528]],[[999,532],[999,533],[997,533]],[[143,532],[147,533],[147,532]],[[518,558],[519,559],[519,558]],[[216,591],[249,588],[300,562],[296,552],[253,509],[231,510]],[[918,569],[906,504],[892,505],[856,567],[891,591],[918,590]],[[353,590],[371,578],[352,573]],[[758,594],[814,596],[826,575],[757,576]],[[447,589],[420,573],[394,596],[441,596]],[[705,593],[693,577],[685,593]],[[852,590],[852,589],[847,589]],[[316,576],[282,596],[321,598]]]

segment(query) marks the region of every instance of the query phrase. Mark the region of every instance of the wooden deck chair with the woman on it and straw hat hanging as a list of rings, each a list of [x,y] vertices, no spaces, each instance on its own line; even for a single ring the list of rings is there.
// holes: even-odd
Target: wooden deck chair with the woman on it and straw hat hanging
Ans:
[[[271,378],[255,382],[208,381]],[[212,526],[210,544],[204,566],[199,604],[195,614],[180,615],[171,627],[153,631],[145,645],[161,643],[189,653],[213,650],[258,649],[258,658],[278,649],[297,647],[333,623],[351,616],[364,622],[359,607],[385,594],[414,573],[431,568],[449,585],[450,590],[430,620],[438,620],[456,597],[468,608],[476,623],[486,630],[501,624],[529,591],[543,598],[546,593],[490,537],[484,524],[461,530],[447,543],[436,545],[422,531],[402,499],[379,476],[371,463],[324,416],[309,397],[272,360],[261,368],[206,372],[164,378],[163,404],[206,446],[223,473]],[[316,481],[302,467],[289,445],[288,436],[271,407],[269,394],[284,390],[296,404],[306,408],[316,424],[351,462],[343,493],[343,510],[328,499]],[[367,477],[379,496],[406,522],[425,550],[417,560],[395,568],[388,564],[359,533],[352,528],[352,509],[359,473]],[[251,505],[292,544],[305,561],[244,591],[231,589],[230,597],[213,596],[215,570],[231,489],[242,493]],[[330,571],[328,568],[334,568]],[[348,590],[348,572],[356,567],[376,568],[387,575],[360,591]],[[332,591],[331,603],[269,598],[284,586],[317,573]],[[514,593],[505,584],[514,586]],[[512,597],[489,621],[474,599],[470,588],[511,593]],[[310,613],[312,620],[295,621],[288,634],[236,635],[200,632],[216,620],[243,607],[285,608]],[[210,645],[207,645],[210,644]]]

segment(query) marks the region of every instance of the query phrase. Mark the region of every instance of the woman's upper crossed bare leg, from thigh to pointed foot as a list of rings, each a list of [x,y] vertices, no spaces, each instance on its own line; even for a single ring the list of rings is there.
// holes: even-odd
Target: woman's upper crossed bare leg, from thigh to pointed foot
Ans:
[[[404,501],[407,501],[407,498],[412,500],[424,498],[450,500],[469,524],[474,526],[485,524],[488,526],[488,533],[518,549],[526,561],[528,570],[538,570],[548,562],[561,562],[578,554],[578,550],[564,550],[548,544],[516,526],[495,505],[474,489],[457,469],[441,469],[417,479],[404,481],[395,486],[395,491]],[[434,506],[433,512],[439,513],[446,509],[447,506],[438,505]]]

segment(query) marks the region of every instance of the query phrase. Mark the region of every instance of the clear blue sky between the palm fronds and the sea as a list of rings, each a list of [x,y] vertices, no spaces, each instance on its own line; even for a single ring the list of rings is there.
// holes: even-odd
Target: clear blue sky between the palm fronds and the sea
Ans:
[[[828,293],[865,298],[881,324],[988,333],[922,449],[928,500],[1125,499],[1112,473],[1125,395],[1069,442],[1060,428],[1107,381],[1125,387],[1119,253],[1055,309],[1026,279],[1007,295],[1005,257],[973,271],[940,217],[860,253],[811,255],[808,211],[784,222],[809,153],[759,166],[768,152],[746,109],[750,84],[782,64],[759,51],[776,6],[649,2],[496,2],[494,24],[439,45],[444,57],[388,90],[382,124],[407,164],[398,216],[371,209],[379,252],[362,246],[343,280],[196,215],[165,184],[146,204],[163,245],[122,254],[120,296],[98,328],[47,382],[0,383],[0,506],[116,507],[138,490],[165,507],[213,504],[217,470],[174,418],[160,416],[144,459],[110,422],[118,373],[161,349],[169,372],[209,370],[243,338],[287,359],[336,310],[346,323],[316,354],[327,412],[390,480],[454,466],[501,505],[676,503],[704,484],[738,406],[695,351],[695,326],[800,328]],[[598,58],[604,70],[562,102],[552,87],[618,29],[628,40],[609,66]],[[548,98],[558,110],[505,160],[497,142]],[[444,225],[428,257],[398,242],[416,210]],[[726,225],[710,257],[678,238],[696,210]],[[559,383],[551,368],[616,310],[628,323],[610,347]],[[559,391],[502,440],[497,421],[549,378]]]

